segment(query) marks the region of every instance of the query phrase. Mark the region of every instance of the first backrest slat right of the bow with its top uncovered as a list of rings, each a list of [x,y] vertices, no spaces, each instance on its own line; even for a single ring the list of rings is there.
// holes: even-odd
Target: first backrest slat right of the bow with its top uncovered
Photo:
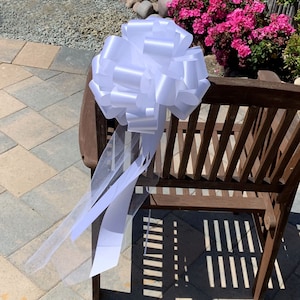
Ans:
[[[194,170],[194,179],[199,180],[201,178],[201,172],[206,159],[210,139],[215,127],[215,123],[218,117],[220,104],[212,104],[209,109],[207,121],[205,124],[204,132],[201,138],[201,145],[197,156],[197,163]]]

